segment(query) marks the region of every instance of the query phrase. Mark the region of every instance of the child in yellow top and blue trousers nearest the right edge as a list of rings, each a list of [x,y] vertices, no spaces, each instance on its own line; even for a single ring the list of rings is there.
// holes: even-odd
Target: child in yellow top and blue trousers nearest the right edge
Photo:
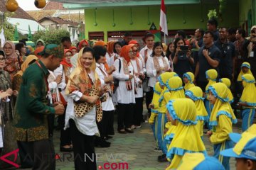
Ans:
[[[242,76],[242,86],[244,89],[238,104],[242,106],[242,132],[244,132],[252,125],[255,115],[256,87],[252,74],[244,74]]]

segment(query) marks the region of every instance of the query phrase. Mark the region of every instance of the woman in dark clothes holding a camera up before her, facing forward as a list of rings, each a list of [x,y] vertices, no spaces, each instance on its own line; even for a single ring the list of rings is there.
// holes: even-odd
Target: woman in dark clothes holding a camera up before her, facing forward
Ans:
[[[192,66],[194,60],[191,57],[191,51],[188,49],[188,46],[185,46],[185,41],[181,38],[176,38],[174,41],[174,72],[178,74],[179,77],[182,77],[186,72],[192,72]]]

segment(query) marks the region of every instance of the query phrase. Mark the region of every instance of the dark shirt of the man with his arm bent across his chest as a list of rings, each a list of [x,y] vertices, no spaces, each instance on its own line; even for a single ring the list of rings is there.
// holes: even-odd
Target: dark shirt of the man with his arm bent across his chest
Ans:
[[[206,71],[208,69],[216,69],[218,72],[218,67],[211,67],[207,62],[206,57],[203,55],[203,50],[207,49],[204,45],[198,51],[198,62],[199,62],[199,73],[198,73],[198,81],[207,81],[206,79]],[[214,44],[208,48],[208,55],[213,60],[217,60],[220,62],[220,50]]]

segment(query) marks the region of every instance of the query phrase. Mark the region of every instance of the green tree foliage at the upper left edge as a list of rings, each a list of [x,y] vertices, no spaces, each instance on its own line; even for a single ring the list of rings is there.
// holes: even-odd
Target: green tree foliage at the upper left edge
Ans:
[[[9,23],[7,21],[7,17],[11,17],[13,14],[12,13],[9,13],[9,12],[5,12],[4,13],[4,23],[2,24],[3,22],[3,19],[1,18],[2,16],[0,16],[0,31],[1,31],[1,28],[4,28],[4,35],[5,35],[5,38],[6,40],[14,40],[14,26],[11,25],[11,23]]]

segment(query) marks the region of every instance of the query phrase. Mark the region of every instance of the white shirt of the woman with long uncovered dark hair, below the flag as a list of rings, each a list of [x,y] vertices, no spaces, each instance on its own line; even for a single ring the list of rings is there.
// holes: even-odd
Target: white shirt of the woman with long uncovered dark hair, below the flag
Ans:
[[[164,67],[164,62],[162,60],[162,57],[157,57],[159,61],[159,66]],[[168,64],[168,69],[170,68],[169,60],[167,57],[164,57],[164,60],[166,60]],[[163,72],[161,72],[163,73]],[[148,57],[148,60],[146,62],[146,75],[149,77],[149,86],[154,87],[156,84],[156,68],[154,67],[154,60],[153,57]]]

